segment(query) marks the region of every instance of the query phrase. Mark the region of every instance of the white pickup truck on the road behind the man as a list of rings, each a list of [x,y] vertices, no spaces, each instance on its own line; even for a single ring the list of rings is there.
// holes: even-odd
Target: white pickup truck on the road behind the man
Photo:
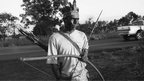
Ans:
[[[133,19],[132,19],[133,20]],[[135,21],[131,21],[127,26],[119,26],[117,27],[117,32],[120,36],[123,37],[124,40],[130,40],[131,37],[139,40],[142,38],[141,33],[144,31],[144,20],[137,19]]]

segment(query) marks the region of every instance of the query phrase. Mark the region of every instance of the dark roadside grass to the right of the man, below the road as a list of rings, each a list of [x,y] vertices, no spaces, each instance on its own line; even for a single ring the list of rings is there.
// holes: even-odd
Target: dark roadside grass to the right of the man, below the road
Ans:
[[[103,51],[93,55],[95,65],[99,67],[106,80],[143,80],[144,71],[142,62],[142,50],[137,48],[123,48],[113,51]],[[140,60],[141,58],[141,60]],[[95,77],[95,76],[94,76]]]

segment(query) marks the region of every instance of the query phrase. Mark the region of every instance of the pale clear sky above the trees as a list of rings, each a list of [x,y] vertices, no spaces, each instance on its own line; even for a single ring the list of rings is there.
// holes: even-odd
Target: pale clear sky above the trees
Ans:
[[[72,2],[73,0],[68,0]],[[111,21],[120,19],[129,12],[134,12],[144,16],[144,0],[76,0],[80,10],[80,23],[84,23],[88,18],[96,21],[101,10],[103,10],[100,20]],[[11,13],[19,17],[22,10],[22,0],[0,0],[0,13]]]

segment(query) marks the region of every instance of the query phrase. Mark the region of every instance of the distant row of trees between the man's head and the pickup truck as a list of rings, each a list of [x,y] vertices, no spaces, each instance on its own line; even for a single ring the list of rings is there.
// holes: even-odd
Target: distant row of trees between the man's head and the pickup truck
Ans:
[[[81,24],[79,29],[84,31],[87,34],[90,34],[92,29],[94,28],[95,22],[91,22],[92,18],[89,18],[84,24]],[[97,27],[94,32],[102,33],[102,32],[110,32],[116,31],[118,26],[126,26],[126,25],[140,25],[140,20],[144,21],[144,16],[139,16],[134,12],[129,12],[124,17],[120,19],[114,19],[113,21],[99,21]]]

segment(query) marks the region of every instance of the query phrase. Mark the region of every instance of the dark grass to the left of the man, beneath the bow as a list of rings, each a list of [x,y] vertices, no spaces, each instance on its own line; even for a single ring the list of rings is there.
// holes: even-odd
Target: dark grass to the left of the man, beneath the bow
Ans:
[[[45,61],[35,61],[35,62],[28,62],[35,67],[47,72],[49,74],[45,75],[36,69],[31,68],[30,66],[26,65],[24,62],[20,60],[7,60],[7,61],[0,61],[1,71],[0,71],[0,80],[47,80],[51,79],[52,73],[48,65],[45,64]],[[54,77],[52,78],[54,79]]]

